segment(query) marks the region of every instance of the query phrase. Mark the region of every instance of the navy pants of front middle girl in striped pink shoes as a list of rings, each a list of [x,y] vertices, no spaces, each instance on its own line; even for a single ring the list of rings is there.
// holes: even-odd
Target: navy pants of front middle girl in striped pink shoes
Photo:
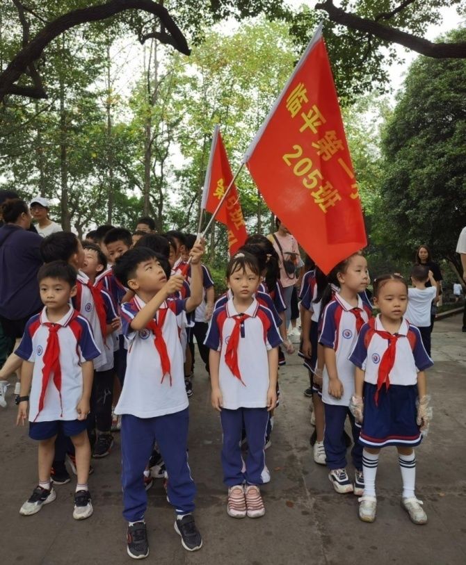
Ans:
[[[227,486],[236,484],[262,484],[268,479],[264,445],[268,425],[266,408],[239,408],[220,412],[223,429],[222,466],[223,482]],[[246,469],[241,457],[241,432],[246,428],[248,439],[248,456]]]

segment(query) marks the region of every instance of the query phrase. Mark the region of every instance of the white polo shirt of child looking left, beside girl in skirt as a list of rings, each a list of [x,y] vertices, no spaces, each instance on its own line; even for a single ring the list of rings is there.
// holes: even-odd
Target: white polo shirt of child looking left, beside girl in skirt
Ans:
[[[354,366],[349,357],[357,341],[356,317],[351,312],[353,306],[348,304],[339,293],[335,293],[333,300],[329,302],[323,311],[321,333],[319,343],[325,347],[332,347],[337,357],[337,374],[343,384],[342,398],[335,398],[328,393],[327,367],[323,368],[322,400],[326,404],[337,404],[348,406],[351,396],[354,394]],[[364,322],[369,320],[371,312],[366,304],[363,304],[360,296],[357,297],[357,309]]]

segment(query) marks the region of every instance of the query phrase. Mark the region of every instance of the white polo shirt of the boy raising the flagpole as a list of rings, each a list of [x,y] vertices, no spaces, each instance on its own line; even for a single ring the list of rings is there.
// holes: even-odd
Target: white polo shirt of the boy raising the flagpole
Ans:
[[[168,375],[165,375],[162,382],[161,359],[154,345],[152,331],[131,329],[131,321],[144,306],[145,302],[137,295],[121,306],[122,331],[128,341],[128,356],[123,389],[115,413],[154,418],[188,407],[184,386],[183,350],[177,325],[177,315],[186,309],[186,301],[168,299],[156,311],[154,318],[159,320],[161,310],[166,309],[162,336],[170,359],[171,384]]]

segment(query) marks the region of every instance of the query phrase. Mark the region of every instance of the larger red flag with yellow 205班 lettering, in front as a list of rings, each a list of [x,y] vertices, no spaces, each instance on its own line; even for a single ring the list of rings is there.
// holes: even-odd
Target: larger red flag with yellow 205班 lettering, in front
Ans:
[[[268,207],[323,272],[367,245],[321,26],[243,161]]]

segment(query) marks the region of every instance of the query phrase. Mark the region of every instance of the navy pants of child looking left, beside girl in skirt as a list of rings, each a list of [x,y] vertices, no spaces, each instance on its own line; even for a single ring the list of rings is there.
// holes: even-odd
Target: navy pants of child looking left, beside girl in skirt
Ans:
[[[349,416],[354,443],[351,457],[355,468],[362,470],[362,445],[358,441],[361,427],[356,425],[353,414],[347,406],[340,406],[339,404],[323,404],[323,408],[326,413],[323,447],[326,449],[328,468],[343,469],[346,467],[346,443],[343,432],[346,416]]]

